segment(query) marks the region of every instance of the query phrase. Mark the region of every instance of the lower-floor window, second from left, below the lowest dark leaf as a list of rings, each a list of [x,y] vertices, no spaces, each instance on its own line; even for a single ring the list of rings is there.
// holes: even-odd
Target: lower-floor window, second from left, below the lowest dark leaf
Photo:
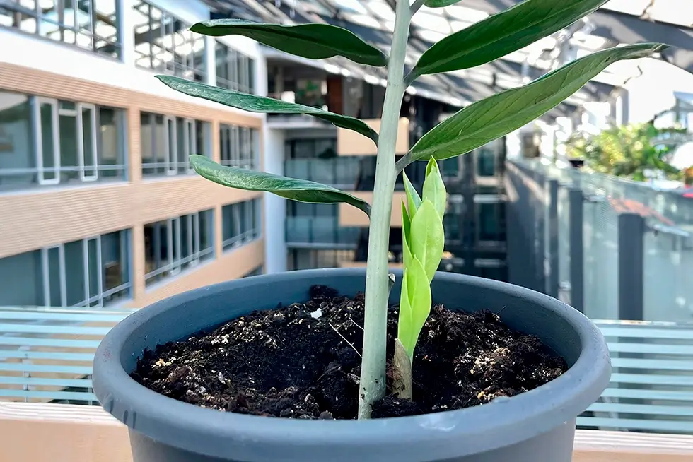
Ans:
[[[146,285],[214,259],[213,211],[144,225]]]

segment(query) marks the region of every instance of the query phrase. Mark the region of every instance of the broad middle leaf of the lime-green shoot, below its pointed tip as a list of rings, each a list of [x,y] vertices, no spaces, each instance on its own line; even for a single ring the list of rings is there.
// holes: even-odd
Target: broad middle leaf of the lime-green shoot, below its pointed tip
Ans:
[[[412,256],[424,265],[427,282],[431,282],[443,258],[445,232],[443,219],[429,199],[421,202],[417,214],[412,218],[412,229],[409,232]]]

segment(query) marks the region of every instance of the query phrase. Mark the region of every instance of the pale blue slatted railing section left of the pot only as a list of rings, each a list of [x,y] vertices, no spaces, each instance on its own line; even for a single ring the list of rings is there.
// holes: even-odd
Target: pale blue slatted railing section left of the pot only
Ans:
[[[97,403],[94,353],[133,311],[0,307],[0,401]]]

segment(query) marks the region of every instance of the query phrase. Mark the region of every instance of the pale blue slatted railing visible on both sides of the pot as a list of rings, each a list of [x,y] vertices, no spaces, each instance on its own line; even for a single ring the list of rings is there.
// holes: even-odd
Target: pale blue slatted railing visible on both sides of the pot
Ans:
[[[92,362],[131,309],[0,308],[0,401],[97,404]],[[693,324],[595,321],[614,367],[578,426],[693,433]]]

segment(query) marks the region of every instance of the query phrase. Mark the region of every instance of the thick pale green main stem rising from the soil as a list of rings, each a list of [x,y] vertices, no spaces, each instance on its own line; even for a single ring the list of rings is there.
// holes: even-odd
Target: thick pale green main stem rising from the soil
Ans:
[[[359,389],[359,419],[371,417],[371,406],[385,396],[385,365],[387,362],[388,247],[392,192],[395,190],[395,144],[404,97],[404,57],[409,37],[409,0],[397,0],[395,32],[388,62],[388,87],[385,90],[383,117],[375,161],[375,187],[368,233],[368,264],[366,266],[366,317],[363,325],[363,361]]]

